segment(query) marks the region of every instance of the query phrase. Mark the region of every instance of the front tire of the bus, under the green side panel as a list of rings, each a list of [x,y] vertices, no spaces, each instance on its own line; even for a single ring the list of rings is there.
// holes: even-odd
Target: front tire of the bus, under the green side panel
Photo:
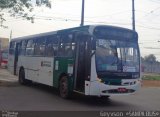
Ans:
[[[67,76],[62,76],[59,82],[59,93],[62,98],[69,98],[69,84]]]

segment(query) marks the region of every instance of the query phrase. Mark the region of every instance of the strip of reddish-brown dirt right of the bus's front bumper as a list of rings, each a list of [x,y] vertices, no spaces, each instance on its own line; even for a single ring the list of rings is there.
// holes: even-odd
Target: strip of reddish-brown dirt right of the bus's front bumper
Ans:
[[[160,87],[160,80],[143,80],[143,87]]]

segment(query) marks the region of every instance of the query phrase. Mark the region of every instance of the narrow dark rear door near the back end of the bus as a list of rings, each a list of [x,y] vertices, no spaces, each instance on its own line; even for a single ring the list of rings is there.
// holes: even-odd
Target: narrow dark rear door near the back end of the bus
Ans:
[[[17,75],[17,74],[18,74],[19,48],[20,48],[20,43],[16,43],[15,56],[14,56],[14,75]]]

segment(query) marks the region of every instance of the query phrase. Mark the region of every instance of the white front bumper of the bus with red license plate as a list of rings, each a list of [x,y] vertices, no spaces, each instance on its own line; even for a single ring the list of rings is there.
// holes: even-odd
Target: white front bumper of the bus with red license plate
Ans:
[[[129,95],[135,93],[141,87],[141,80],[139,79],[124,79],[123,82],[129,82],[129,84],[107,85],[100,81],[85,81],[85,95],[99,97],[113,95]]]

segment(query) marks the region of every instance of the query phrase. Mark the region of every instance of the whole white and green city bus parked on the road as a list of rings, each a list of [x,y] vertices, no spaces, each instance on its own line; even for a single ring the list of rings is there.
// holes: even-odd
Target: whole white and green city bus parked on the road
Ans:
[[[138,34],[87,25],[12,39],[8,69],[29,81],[87,96],[132,94],[141,87]]]

